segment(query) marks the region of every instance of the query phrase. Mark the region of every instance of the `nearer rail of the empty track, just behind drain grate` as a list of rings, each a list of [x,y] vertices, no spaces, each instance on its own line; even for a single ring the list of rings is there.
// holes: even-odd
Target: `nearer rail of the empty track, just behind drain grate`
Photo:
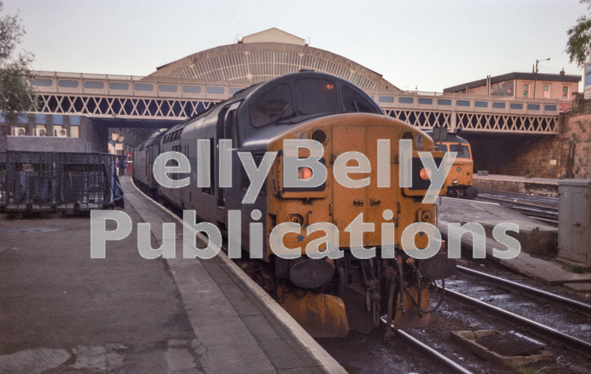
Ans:
[[[440,286],[438,286],[438,288],[440,288]],[[495,307],[494,305],[482,302],[478,299],[474,299],[474,297],[469,297],[460,292],[452,291],[449,289],[446,289],[445,291],[448,292],[448,295],[455,297],[455,299],[458,299],[462,302],[466,302],[467,304],[471,304],[476,307],[480,307],[481,309],[485,309],[486,311],[490,311],[494,314],[507,318],[510,321],[526,325],[528,328],[533,328],[533,330],[537,332],[537,335],[542,335],[543,337],[549,338],[550,340],[554,340],[556,342],[564,344],[566,345],[566,347],[569,347],[573,351],[585,354],[585,356],[591,356],[590,342],[580,340],[578,339],[578,337],[566,335],[565,333],[561,333],[559,330],[555,330],[554,328],[551,328],[547,325],[542,325],[542,323],[530,320],[529,318],[525,318],[523,316],[519,316],[518,314],[514,314],[511,311]]]

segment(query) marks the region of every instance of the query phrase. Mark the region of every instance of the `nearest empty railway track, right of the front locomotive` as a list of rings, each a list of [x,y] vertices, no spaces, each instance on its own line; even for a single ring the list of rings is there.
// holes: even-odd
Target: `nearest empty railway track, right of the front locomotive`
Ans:
[[[591,305],[462,266],[459,273],[468,279],[446,282],[448,296],[591,357]],[[462,283],[469,295],[454,290]]]

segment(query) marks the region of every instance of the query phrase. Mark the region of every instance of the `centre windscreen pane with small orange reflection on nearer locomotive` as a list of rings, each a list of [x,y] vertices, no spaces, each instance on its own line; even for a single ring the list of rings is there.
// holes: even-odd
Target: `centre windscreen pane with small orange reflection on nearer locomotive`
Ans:
[[[319,115],[341,111],[338,105],[336,85],[329,79],[298,79],[295,81],[295,97],[298,112],[302,115]]]

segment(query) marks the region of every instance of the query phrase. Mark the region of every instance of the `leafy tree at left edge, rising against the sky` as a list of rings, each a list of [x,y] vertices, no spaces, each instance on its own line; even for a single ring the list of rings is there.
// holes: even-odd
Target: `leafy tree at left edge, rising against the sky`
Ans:
[[[3,9],[0,0],[0,13]],[[24,34],[18,15],[0,15],[0,112],[9,122],[19,113],[31,110],[34,104],[29,67],[32,54],[23,52],[14,56]]]

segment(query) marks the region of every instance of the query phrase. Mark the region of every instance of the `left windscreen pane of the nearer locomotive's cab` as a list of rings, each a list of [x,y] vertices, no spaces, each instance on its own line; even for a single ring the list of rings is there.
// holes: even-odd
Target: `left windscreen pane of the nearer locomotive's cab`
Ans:
[[[250,122],[254,127],[263,127],[294,115],[291,103],[291,88],[288,84],[277,84],[265,92],[250,106]]]

